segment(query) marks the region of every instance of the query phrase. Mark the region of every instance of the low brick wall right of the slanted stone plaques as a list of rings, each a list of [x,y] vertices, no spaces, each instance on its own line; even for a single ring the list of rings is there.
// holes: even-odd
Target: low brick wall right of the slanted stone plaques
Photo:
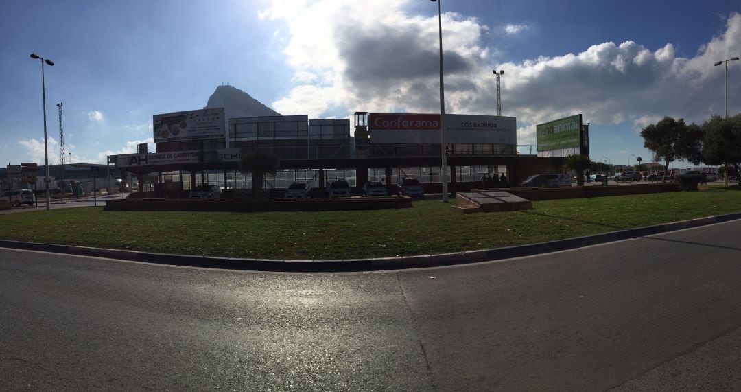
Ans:
[[[536,202],[538,200],[576,199],[581,197],[639,195],[643,193],[676,192],[677,183],[640,185],[597,185],[588,187],[509,187],[491,190],[504,190],[513,195]],[[473,189],[481,192],[482,189]]]

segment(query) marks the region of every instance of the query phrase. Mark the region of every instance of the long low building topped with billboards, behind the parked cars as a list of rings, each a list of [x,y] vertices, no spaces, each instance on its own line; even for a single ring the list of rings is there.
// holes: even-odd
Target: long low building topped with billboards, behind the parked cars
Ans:
[[[533,173],[560,171],[560,158],[539,158],[532,146],[516,144],[516,119],[506,116],[356,112],[349,119],[262,116],[224,119],[204,109],[153,116],[156,152],[116,156],[111,162],[141,179],[155,196],[182,196],[201,183],[233,194],[251,187],[237,171],[243,151],[270,150],[281,170],[265,179],[267,189],[291,182],[321,188],[333,179],[353,187],[366,181],[393,184],[416,178],[428,193],[440,190],[441,140],[445,130],[451,191],[480,186],[482,173],[506,173],[511,183]]]

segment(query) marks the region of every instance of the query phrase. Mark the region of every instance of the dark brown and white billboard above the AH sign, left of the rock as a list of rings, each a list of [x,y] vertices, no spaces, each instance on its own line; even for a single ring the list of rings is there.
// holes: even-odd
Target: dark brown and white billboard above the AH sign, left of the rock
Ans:
[[[223,107],[156,114],[153,122],[155,143],[226,137]]]

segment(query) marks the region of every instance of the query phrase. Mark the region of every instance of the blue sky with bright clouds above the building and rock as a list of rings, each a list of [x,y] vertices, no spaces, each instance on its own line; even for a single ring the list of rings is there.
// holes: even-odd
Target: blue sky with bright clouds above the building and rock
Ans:
[[[0,2],[0,165],[50,164],[152,144],[152,116],[205,106],[230,84],[284,115],[439,113],[438,3],[429,0]],[[639,133],[663,116],[725,113],[741,56],[738,1],[442,0],[445,111],[535,125],[582,113],[591,159],[651,162]],[[728,62],[741,113],[741,61]],[[153,144],[150,146],[153,150]]]

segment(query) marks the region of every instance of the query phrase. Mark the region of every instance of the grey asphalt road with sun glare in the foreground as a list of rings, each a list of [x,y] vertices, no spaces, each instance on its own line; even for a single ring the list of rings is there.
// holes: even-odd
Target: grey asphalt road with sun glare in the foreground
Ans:
[[[0,249],[0,390],[740,389],[740,231],[384,273]]]

